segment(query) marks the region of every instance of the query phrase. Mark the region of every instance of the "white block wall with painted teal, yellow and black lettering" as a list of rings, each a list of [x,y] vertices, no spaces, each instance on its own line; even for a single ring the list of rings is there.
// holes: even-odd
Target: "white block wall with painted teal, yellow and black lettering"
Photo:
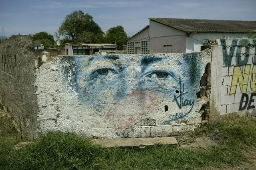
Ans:
[[[220,39],[213,46],[212,94],[220,115],[256,116],[256,39]]]

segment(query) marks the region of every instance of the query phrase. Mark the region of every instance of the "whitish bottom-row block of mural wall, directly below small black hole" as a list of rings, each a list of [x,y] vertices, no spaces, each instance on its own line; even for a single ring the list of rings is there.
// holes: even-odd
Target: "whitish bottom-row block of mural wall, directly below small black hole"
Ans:
[[[173,136],[173,126],[151,127],[151,136]]]

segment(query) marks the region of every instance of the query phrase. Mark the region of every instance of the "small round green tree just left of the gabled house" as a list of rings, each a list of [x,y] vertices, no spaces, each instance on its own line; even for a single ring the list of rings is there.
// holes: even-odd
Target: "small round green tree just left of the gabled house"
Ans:
[[[122,50],[122,45],[126,45],[128,38],[123,26],[109,28],[106,32],[105,42],[116,43],[117,49]]]

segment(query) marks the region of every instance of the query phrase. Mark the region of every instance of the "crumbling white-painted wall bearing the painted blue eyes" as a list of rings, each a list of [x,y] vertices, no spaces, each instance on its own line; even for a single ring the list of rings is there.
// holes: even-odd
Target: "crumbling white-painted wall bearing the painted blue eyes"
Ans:
[[[40,131],[89,137],[155,137],[194,130],[210,51],[59,56],[37,70]],[[40,78],[39,78],[40,75]]]

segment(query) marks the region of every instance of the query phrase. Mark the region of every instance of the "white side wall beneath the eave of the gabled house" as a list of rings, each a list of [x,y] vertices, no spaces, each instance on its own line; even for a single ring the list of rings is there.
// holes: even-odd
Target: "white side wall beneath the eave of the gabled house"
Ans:
[[[249,33],[191,33],[186,36],[186,53],[199,52],[201,45],[207,39],[234,39],[234,38],[250,38],[255,37],[256,34]]]

